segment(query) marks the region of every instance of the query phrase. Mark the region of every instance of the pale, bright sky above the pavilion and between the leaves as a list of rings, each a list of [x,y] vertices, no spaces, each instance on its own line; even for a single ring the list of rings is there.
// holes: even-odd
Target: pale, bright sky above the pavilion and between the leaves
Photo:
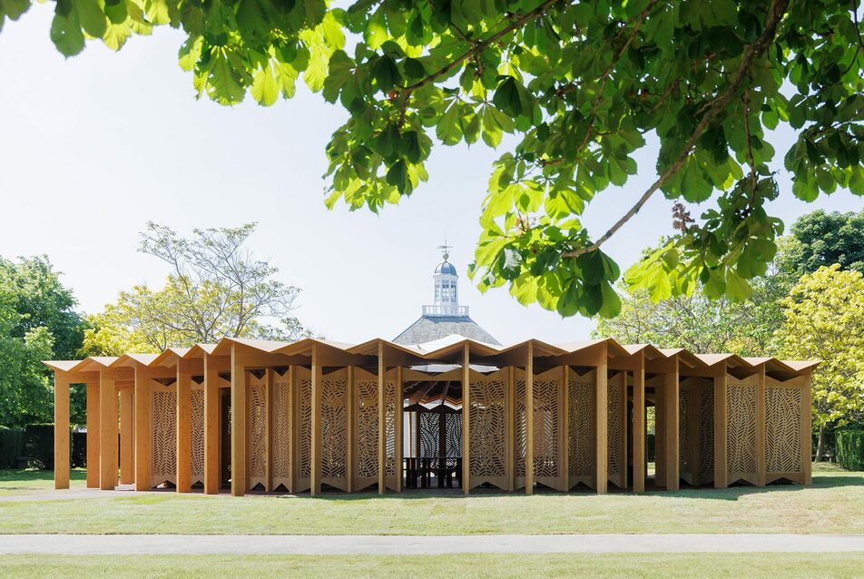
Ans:
[[[302,83],[294,99],[269,108],[250,97],[235,107],[196,101],[191,74],[177,64],[182,34],[163,27],[119,53],[92,42],[64,60],[48,35],[52,8],[34,5],[0,32],[0,256],[47,255],[83,311],[135,284],[161,287],[167,265],[137,252],[147,221],[182,233],[257,221],[250,249],[302,289],[296,315],[328,339],[391,339],[417,319],[431,303],[445,236],[461,305],[496,339],[589,337],[590,319],[525,308],[506,289],[480,294],[467,279],[490,168],[506,149],[439,146],[429,181],[398,206],[328,211],[324,150],[346,120],[342,109]],[[780,163],[794,134],[769,140]],[[656,146],[645,147],[639,174],[591,204],[583,222],[594,237],[654,181],[655,157]],[[864,207],[848,191],[798,201],[782,170],[780,182],[769,212],[787,226],[816,209]],[[672,232],[672,202],[655,194],[604,245],[622,270]]]

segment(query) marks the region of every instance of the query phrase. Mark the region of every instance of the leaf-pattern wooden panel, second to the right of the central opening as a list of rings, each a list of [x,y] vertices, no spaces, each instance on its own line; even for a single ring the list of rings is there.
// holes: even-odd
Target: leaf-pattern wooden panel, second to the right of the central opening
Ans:
[[[560,368],[553,368],[534,377],[534,473],[538,479],[555,478],[559,472],[561,375]]]

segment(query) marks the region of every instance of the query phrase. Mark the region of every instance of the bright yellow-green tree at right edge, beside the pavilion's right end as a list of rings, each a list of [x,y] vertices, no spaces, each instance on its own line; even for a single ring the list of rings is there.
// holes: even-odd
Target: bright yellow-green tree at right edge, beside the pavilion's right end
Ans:
[[[782,354],[821,360],[812,385],[820,460],[826,427],[864,418],[864,275],[837,263],[820,267],[802,276],[782,305]]]

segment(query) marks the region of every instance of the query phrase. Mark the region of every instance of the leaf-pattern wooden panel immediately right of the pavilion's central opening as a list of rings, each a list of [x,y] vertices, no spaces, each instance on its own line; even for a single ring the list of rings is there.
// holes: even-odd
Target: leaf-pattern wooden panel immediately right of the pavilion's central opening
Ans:
[[[471,377],[469,425],[472,477],[506,476],[506,390],[508,371]]]

